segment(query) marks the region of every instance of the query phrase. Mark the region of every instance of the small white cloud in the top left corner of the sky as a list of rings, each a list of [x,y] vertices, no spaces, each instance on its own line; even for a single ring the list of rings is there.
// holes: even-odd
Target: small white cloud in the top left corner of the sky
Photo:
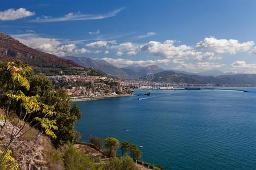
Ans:
[[[32,15],[35,15],[35,12],[27,11],[26,8],[18,8],[18,10],[11,8],[9,10],[0,11],[0,20],[16,20]]]

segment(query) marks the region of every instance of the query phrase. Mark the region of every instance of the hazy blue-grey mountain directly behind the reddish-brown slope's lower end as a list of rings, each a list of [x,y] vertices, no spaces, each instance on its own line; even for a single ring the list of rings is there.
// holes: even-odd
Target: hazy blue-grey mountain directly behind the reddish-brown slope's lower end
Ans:
[[[73,57],[73,56],[67,56],[63,58],[71,59],[72,61],[79,63],[83,67],[100,70],[103,73],[106,73],[112,76],[128,76],[127,73],[123,71],[121,68],[115,67],[103,59],[92,59],[87,57]]]

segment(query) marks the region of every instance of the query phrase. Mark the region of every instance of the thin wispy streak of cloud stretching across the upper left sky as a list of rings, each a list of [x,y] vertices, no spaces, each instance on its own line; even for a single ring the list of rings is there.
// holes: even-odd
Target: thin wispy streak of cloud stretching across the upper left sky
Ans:
[[[122,11],[124,8],[119,8],[118,10],[114,10],[112,12],[108,12],[105,14],[81,14],[80,12],[77,13],[69,13],[64,15],[63,17],[59,18],[52,18],[51,16],[43,16],[41,18],[36,18],[35,20],[31,20],[31,22],[38,22],[38,23],[46,23],[46,22],[65,22],[65,21],[72,21],[72,20],[96,20],[96,19],[104,19],[110,18],[118,14],[118,12]]]

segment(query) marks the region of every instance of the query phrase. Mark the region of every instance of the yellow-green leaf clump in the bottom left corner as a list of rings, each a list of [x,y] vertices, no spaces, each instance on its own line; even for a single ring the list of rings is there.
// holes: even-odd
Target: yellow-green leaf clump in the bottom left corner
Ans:
[[[2,156],[2,154],[5,153],[0,150],[0,155]],[[11,150],[7,150],[6,154],[3,155],[3,159],[0,162],[0,169],[19,169],[18,163],[15,163],[15,159],[11,156]]]

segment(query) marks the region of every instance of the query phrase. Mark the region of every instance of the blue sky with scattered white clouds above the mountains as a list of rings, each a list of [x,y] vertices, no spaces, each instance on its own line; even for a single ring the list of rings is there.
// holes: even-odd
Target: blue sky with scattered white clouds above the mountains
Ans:
[[[256,1],[3,1],[0,31],[118,67],[256,73]]]

